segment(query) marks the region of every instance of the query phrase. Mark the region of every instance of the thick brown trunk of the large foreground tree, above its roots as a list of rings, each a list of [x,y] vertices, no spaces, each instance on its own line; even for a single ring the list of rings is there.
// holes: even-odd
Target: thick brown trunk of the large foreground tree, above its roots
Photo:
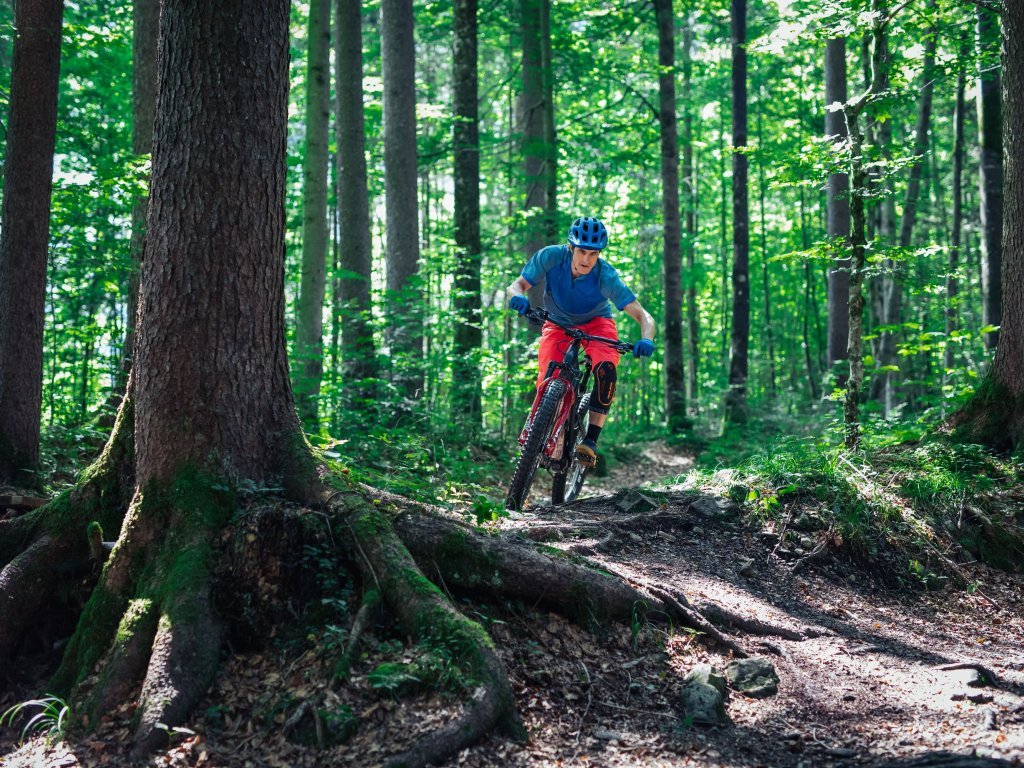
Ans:
[[[282,15],[287,23],[284,0],[163,7],[135,381],[142,487],[184,465],[269,479],[282,441],[296,434],[285,347]]]

